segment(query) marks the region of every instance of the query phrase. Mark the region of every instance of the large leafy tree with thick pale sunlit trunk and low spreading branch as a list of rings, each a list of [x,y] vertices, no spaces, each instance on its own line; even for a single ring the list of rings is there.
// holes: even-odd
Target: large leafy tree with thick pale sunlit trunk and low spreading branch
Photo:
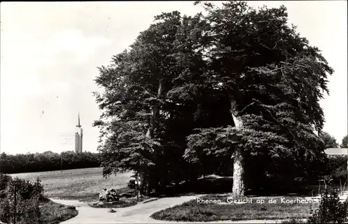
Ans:
[[[304,170],[305,175],[311,170],[306,164],[323,154],[314,131],[324,123],[319,99],[328,92],[326,75],[333,70],[319,49],[288,26],[284,6],[204,5],[214,37],[207,53],[209,70],[220,81],[216,88],[230,100],[235,125],[189,136],[185,157],[192,160],[203,148],[232,154],[235,195],[244,194],[245,171],[255,157],[262,158],[266,171],[291,177]],[[208,136],[215,137],[208,141]]]

